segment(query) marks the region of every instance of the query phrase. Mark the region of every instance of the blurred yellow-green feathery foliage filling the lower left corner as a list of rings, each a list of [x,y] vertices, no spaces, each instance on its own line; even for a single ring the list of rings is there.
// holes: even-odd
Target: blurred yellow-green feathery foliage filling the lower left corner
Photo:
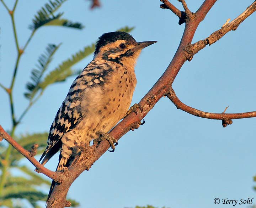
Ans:
[[[33,144],[38,144],[38,154],[42,154],[46,147],[46,141],[48,138],[48,133],[37,133],[37,134],[26,134],[15,137],[17,142],[23,146],[25,149],[29,150]],[[6,147],[2,146],[0,148],[1,157],[5,157]],[[7,180],[4,186],[4,192],[1,196],[0,206],[6,206],[10,208],[17,208],[14,204],[13,199],[26,199],[32,207],[42,208],[39,206],[38,201],[46,201],[48,194],[41,190],[42,185],[50,186],[51,180],[43,178],[41,174],[34,172],[34,170],[27,168],[20,164],[20,160],[24,157],[18,153],[18,151],[13,150],[10,155],[10,172],[7,176]],[[22,172],[22,176],[16,176],[12,173]],[[78,206],[78,202],[71,200],[72,206]],[[25,206],[20,206],[24,208]]]

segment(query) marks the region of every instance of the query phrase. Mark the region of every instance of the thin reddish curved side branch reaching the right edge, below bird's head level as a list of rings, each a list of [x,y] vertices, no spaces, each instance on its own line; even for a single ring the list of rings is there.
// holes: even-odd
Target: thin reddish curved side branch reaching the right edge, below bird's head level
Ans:
[[[196,108],[187,106],[186,104],[181,102],[172,88],[169,90],[166,96],[174,103],[174,105],[178,109],[181,109],[182,111],[185,111],[187,113],[190,113],[194,116],[198,116],[201,118],[216,119],[216,120],[231,120],[231,119],[256,117],[256,111],[246,112],[246,113],[208,113],[208,112],[200,111]]]

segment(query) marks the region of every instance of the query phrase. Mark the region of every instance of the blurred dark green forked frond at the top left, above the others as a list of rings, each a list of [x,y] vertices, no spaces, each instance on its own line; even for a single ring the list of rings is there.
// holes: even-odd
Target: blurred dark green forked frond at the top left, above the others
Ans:
[[[82,24],[79,22],[73,23],[67,19],[60,19],[63,12],[54,15],[54,12],[56,12],[65,1],[66,0],[50,0],[49,3],[45,4],[44,7],[42,7],[41,10],[39,10],[34,16],[32,19],[33,23],[29,26],[29,28],[36,30],[41,26],[53,25],[82,29],[84,26],[82,26]]]

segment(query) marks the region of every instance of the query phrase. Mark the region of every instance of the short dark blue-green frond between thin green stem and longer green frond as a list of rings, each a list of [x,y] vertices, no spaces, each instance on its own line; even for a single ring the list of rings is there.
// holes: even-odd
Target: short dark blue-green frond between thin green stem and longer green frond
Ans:
[[[54,53],[58,50],[59,45],[48,44],[46,52],[38,58],[37,68],[31,72],[32,81],[28,82],[26,88],[28,92],[24,95],[26,98],[32,100],[39,90],[39,83],[44,72],[47,70],[49,63],[52,61]]]

